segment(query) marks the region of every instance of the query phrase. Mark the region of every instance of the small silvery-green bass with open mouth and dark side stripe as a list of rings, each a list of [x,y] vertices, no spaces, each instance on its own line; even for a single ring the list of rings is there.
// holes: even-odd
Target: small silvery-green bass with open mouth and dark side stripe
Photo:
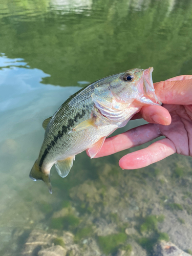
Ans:
[[[52,194],[50,170],[65,178],[75,156],[87,149],[91,158],[106,137],[123,127],[144,105],[161,105],[152,80],[153,67],[104,77],[68,98],[42,126],[45,137],[30,178],[42,180]]]

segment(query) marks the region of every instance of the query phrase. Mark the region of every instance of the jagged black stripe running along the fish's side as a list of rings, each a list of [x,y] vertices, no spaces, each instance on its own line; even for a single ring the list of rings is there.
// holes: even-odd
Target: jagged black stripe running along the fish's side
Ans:
[[[74,126],[75,122],[77,122],[78,119],[82,118],[84,115],[86,115],[86,111],[82,110],[82,113],[80,114],[79,112],[75,115],[74,119],[69,119],[68,120],[68,125],[63,125],[62,130],[58,131],[58,134],[53,137],[53,140],[50,142],[50,144],[47,146],[46,150],[44,151],[44,154],[42,154],[42,157],[39,162],[39,166],[42,166],[42,163],[44,162],[47,154],[51,150],[51,148],[57,143],[57,140],[60,139],[63,134],[66,134],[71,127]]]

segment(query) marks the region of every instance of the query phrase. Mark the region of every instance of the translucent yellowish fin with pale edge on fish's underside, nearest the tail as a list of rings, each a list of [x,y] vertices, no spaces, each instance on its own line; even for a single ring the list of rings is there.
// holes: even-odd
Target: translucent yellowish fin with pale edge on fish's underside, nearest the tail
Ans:
[[[61,161],[57,161],[55,167],[58,175],[60,175],[62,178],[68,176],[70,169],[73,166],[73,160],[75,160],[75,156],[68,157]]]

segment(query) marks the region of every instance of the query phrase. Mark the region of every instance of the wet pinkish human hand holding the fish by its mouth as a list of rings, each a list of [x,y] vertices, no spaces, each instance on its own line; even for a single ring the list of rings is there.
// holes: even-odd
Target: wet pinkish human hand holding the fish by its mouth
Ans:
[[[136,169],[160,161],[174,153],[192,156],[192,75],[170,78],[154,84],[163,106],[143,106],[132,119],[144,118],[145,125],[107,138],[95,158],[138,146],[160,136],[166,138],[123,156],[122,169]]]

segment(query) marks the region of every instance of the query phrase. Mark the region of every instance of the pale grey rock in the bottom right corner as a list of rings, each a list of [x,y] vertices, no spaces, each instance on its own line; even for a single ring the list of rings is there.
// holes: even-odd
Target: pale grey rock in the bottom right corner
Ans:
[[[153,256],[190,256],[181,249],[179,249],[175,244],[166,241],[160,241],[154,246]]]

